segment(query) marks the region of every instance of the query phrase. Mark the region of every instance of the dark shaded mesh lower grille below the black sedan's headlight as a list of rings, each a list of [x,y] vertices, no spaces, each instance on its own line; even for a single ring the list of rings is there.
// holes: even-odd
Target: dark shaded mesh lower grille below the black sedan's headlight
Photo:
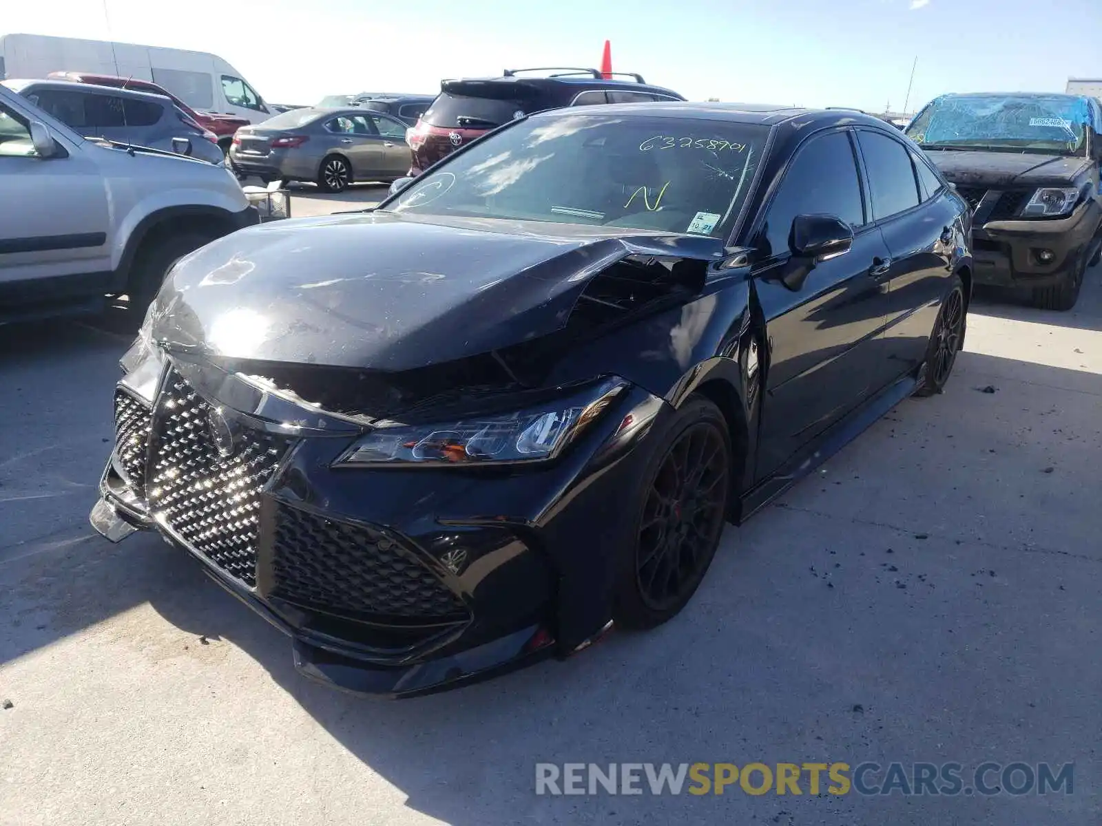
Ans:
[[[466,610],[426,566],[380,530],[280,506],[272,596],[344,616],[462,618]]]

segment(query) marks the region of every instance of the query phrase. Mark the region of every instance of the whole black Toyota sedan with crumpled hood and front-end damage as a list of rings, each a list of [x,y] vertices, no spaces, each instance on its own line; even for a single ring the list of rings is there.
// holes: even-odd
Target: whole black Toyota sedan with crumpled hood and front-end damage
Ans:
[[[560,110],[403,183],[175,265],[91,514],[347,691],[669,620],[725,520],[940,392],[964,338],[966,205],[860,112]]]

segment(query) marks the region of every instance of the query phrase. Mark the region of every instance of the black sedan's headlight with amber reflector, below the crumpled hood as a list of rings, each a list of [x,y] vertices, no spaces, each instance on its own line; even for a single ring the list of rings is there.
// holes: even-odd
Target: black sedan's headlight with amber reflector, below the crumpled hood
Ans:
[[[388,423],[360,437],[334,464],[471,466],[552,459],[626,389],[627,382],[613,378],[519,412],[425,425]]]

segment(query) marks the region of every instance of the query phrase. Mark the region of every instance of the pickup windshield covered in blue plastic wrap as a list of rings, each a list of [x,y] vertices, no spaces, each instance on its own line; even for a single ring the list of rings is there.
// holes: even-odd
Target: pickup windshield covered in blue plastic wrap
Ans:
[[[1090,111],[1069,95],[968,95],[936,99],[907,135],[925,149],[1082,155]]]

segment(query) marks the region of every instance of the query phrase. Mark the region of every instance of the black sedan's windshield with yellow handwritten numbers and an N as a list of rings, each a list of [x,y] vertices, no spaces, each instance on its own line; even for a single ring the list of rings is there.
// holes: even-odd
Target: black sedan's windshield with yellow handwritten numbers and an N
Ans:
[[[536,117],[453,155],[385,209],[726,237],[768,133],[719,120]]]

